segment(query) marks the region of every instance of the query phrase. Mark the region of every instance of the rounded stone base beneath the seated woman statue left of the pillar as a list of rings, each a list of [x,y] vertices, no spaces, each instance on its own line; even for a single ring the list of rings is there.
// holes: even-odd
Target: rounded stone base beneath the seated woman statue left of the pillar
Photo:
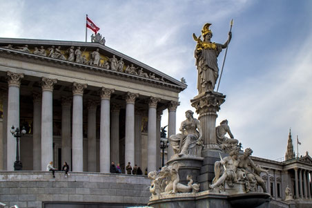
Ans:
[[[191,175],[193,181],[197,183],[197,177],[200,173],[200,168],[202,167],[202,162],[204,158],[196,157],[193,155],[185,155],[181,158],[178,155],[173,155],[171,159],[166,163],[167,165],[173,164],[173,162],[180,162],[182,166],[179,167],[179,182],[183,185],[187,185],[188,180],[186,176]]]

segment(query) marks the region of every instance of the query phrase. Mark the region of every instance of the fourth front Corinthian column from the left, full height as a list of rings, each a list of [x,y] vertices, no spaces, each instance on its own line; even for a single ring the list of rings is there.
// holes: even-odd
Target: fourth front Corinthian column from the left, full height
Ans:
[[[101,124],[99,131],[99,169],[110,172],[110,95],[115,90],[101,88]]]

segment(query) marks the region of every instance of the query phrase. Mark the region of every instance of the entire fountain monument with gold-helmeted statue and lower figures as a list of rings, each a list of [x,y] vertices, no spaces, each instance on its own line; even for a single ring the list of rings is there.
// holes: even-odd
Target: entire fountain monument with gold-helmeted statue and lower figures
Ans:
[[[210,26],[206,23],[199,37],[193,34],[197,41],[198,95],[191,105],[199,118],[193,117],[193,111],[186,111],[181,133],[168,138],[174,155],[161,171],[148,173],[151,207],[260,208],[269,203],[269,193],[260,177],[267,170],[251,160],[250,148],[242,151],[227,120],[215,125],[217,111],[226,97],[214,91],[219,76],[217,57],[230,43],[232,34],[228,33],[225,44],[216,44],[211,42]]]

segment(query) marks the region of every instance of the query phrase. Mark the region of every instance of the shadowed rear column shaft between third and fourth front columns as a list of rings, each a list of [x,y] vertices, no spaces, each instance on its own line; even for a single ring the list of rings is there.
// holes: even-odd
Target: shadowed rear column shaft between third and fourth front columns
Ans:
[[[88,103],[88,171],[97,171],[97,104]]]

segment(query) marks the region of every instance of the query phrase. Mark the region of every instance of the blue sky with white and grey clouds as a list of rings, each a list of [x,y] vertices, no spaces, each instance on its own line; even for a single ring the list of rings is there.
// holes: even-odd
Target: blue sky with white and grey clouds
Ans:
[[[193,32],[212,23],[212,41],[224,44],[233,19],[219,92],[234,137],[253,155],[283,158],[291,128],[300,155],[312,154],[312,1],[32,1],[0,0],[0,37],[85,41],[86,14],[106,46],[179,80],[177,132],[197,95]],[[90,41],[91,30],[88,30]],[[218,57],[219,68],[224,51]],[[197,115],[195,115],[197,117]],[[162,126],[168,124],[168,112]]]

